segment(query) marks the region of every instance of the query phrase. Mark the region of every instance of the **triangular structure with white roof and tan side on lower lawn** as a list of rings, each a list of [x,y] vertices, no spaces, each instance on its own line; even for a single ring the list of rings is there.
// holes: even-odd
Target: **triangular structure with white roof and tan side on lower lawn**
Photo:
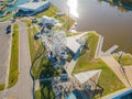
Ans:
[[[89,70],[75,75],[75,79],[88,94],[96,89],[101,69]]]

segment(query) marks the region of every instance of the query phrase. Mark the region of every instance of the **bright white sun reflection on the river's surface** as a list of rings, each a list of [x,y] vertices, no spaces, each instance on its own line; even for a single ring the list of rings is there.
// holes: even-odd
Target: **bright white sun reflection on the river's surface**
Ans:
[[[79,18],[78,14],[78,0],[67,0],[67,6],[69,8],[69,13],[76,18]]]

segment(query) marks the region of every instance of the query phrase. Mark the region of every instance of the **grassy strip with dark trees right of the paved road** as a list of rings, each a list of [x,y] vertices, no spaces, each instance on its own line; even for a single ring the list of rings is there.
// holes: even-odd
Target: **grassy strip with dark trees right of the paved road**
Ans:
[[[44,46],[41,45],[41,40],[34,40],[36,29],[31,23],[31,20],[23,20],[28,25],[29,46],[32,62],[32,73],[35,79],[46,76],[56,76],[57,72],[53,68],[53,65],[47,58],[47,52]]]

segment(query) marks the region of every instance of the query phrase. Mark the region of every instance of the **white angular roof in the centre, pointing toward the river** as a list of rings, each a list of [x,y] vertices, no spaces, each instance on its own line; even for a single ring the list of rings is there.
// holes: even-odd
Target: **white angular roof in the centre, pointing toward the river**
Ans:
[[[66,46],[73,51],[74,53],[77,53],[77,51],[80,48],[81,44],[77,42],[78,38],[80,38],[81,36],[86,35],[87,33],[81,33],[79,35],[75,35],[75,36],[69,36],[66,37]]]

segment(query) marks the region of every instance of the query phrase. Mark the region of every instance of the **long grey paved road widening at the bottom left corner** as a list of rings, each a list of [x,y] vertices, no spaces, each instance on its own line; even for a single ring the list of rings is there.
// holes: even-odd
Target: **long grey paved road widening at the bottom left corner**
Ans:
[[[15,86],[7,89],[0,94],[0,99],[33,99],[32,85],[33,81],[30,76],[31,57],[29,48],[29,40],[25,28],[26,24],[16,22],[20,24],[20,76]]]

